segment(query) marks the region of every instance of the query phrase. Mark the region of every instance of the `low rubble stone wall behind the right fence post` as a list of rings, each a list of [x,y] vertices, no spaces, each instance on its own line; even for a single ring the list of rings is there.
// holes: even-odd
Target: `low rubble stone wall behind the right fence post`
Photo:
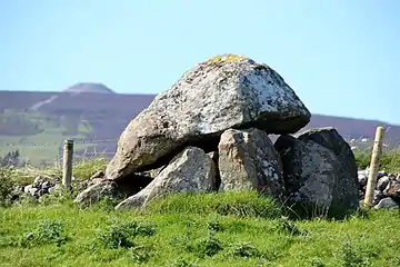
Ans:
[[[359,196],[364,199],[367,190],[369,169],[358,171]],[[378,209],[400,207],[400,174],[388,174],[384,170],[378,171],[377,187],[373,194],[373,206]]]

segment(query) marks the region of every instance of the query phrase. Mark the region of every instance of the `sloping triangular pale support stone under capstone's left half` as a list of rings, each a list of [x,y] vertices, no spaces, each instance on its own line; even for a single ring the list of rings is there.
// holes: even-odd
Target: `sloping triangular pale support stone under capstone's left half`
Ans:
[[[141,191],[120,202],[116,209],[144,207],[150,200],[171,192],[216,190],[216,166],[202,149],[187,147]]]

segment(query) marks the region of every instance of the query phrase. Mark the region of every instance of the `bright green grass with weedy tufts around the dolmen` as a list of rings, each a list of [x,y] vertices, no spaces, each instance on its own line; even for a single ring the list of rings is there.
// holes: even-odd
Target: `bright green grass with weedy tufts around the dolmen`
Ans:
[[[356,156],[359,164],[368,160]],[[383,160],[389,171],[398,168],[394,159]],[[86,179],[103,167],[102,160],[81,161],[74,175]],[[18,172],[13,176],[14,182],[23,180]],[[114,210],[108,200],[80,209],[68,196],[48,197],[0,208],[0,263],[4,267],[400,266],[399,210],[360,210],[343,220],[290,220],[287,215],[256,192],[178,194],[141,211]]]

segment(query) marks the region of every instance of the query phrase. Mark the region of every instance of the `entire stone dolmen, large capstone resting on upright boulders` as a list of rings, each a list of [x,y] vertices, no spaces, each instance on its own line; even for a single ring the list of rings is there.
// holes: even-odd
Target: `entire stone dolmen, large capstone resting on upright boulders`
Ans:
[[[317,214],[354,210],[359,185],[349,145],[333,128],[291,136],[310,117],[267,65],[234,55],[211,58],[127,126],[107,181],[76,201],[97,201],[104,188],[130,191],[117,208],[146,207],[171,192],[256,189]],[[281,135],[276,144],[272,134]]]

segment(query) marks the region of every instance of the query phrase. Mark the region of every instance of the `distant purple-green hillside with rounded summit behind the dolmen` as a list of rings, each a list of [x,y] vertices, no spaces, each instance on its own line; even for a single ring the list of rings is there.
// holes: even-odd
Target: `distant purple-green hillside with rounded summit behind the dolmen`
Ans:
[[[77,155],[111,157],[129,121],[154,95],[114,93],[101,83],[77,83],[62,92],[0,91],[0,155],[20,149],[32,164],[52,162],[66,138]],[[400,142],[400,126],[376,120],[312,115],[310,127],[336,127],[353,146],[370,146],[377,126],[389,130],[386,141]]]

